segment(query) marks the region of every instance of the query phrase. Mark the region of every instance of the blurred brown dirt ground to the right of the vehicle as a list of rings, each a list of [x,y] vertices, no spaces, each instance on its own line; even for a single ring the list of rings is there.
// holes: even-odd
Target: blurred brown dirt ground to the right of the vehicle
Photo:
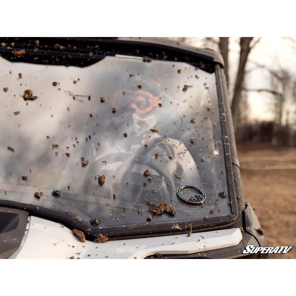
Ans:
[[[237,150],[244,198],[255,209],[268,246],[295,246],[271,258],[295,259],[296,148],[244,143]]]

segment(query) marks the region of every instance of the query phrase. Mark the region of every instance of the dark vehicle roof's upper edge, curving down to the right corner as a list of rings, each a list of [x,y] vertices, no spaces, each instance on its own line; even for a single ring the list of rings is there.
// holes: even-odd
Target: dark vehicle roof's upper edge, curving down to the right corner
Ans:
[[[48,37],[45,37],[48,38]],[[50,37],[52,38],[52,37]],[[170,49],[184,54],[193,54],[197,57],[207,59],[209,61],[219,63],[224,67],[224,61],[221,54],[215,52],[212,49],[202,49],[186,44],[181,44],[177,41],[159,38],[159,37],[54,37],[57,39],[69,40],[69,41],[100,41],[100,42],[109,42],[109,43],[123,43],[131,45],[146,45],[146,46],[155,46],[162,49]]]

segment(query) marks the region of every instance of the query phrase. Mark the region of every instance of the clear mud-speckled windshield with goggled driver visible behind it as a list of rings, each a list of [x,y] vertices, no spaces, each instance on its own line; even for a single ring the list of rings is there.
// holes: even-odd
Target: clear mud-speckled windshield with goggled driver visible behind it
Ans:
[[[144,225],[147,202],[176,212],[150,223],[231,213],[217,199],[228,189],[215,73],[123,57],[85,68],[3,58],[0,66],[0,199],[101,227]],[[185,184],[205,192],[203,206],[177,197]]]

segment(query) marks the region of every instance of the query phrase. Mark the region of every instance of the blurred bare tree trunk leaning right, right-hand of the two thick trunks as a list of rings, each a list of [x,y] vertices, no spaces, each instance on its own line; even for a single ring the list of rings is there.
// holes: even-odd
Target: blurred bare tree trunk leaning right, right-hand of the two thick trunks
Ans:
[[[237,71],[237,78],[234,87],[234,94],[231,104],[231,113],[233,119],[234,130],[237,129],[239,120],[239,105],[241,99],[242,84],[244,81],[245,67],[248,59],[248,55],[251,51],[250,43],[253,37],[241,37],[240,38],[240,56],[239,56],[239,69]]]

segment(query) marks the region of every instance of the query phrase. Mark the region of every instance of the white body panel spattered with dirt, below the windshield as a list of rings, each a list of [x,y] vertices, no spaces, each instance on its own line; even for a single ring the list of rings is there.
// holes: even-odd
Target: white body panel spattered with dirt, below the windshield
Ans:
[[[155,253],[192,254],[239,244],[239,229],[224,229],[201,233],[109,241],[104,244],[86,241],[70,229],[45,219],[30,217],[29,230],[21,246],[9,259],[143,259]]]

